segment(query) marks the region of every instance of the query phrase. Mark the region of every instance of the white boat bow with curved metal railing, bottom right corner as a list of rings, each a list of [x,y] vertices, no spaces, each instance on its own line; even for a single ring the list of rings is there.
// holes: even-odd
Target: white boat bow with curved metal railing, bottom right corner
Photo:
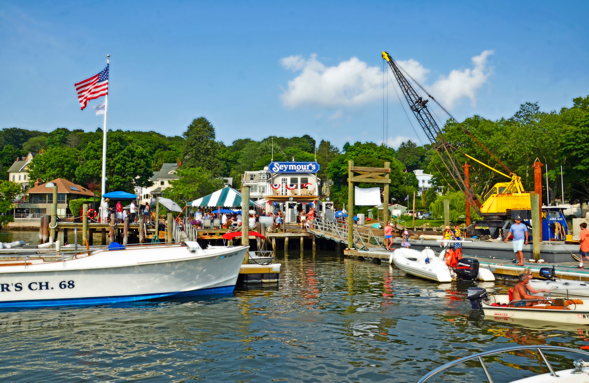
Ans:
[[[500,355],[500,354],[504,354]],[[446,363],[445,365],[434,369],[421,379],[418,383],[426,381],[433,381],[436,378],[442,378],[446,369],[455,367],[463,362],[472,361],[469,367],[464,372],[452,372],[450,377],[457,378],[460,382],[497,382],[504,381],[510,383],[585,383],[589,381],[589,362],[584,362],[583,359],[574,360],[578,356],[574,356],[570,360],[568,366],[573,368],[555,371],[554,366],[550,363],[564,365],[567,367],[563,359],[563,355],[568,354],[582,354],[587,358],[589,352],[566,348],[561,346],[512,346],[508,348],[479,352],[479,354],[466,356],[455,361]],[[572,356],[572,355],[570,355]],[[485,359],[483,359],[485,358]],[[485,363],[486,361],[486,363]],[[525,365],[522,365],[525,364]],[[480,365],[479,368],[477,368]],[[540,367],[540,369],[538,369]],[[482,371],[481,371],[482,370]],[[521,377],[521,375],[531,375],[533,371],[546,371],[544,374],[536,374],[530,377]],[[438,377],[434,377],[438,375]],[[502,376],[499,376],[502,375]],[[514,376],[519,375],[521,378],[514,379]],[[432,378],[433,377],[433,378]],[[432,378],[432,379],[430,379]],[[486,378],[486,379],[485,379]],[[494,379],[495,378],[495,379]],[[439,381],[439,380],[438,380]],[[454,381],[454,379],[452,379]]]

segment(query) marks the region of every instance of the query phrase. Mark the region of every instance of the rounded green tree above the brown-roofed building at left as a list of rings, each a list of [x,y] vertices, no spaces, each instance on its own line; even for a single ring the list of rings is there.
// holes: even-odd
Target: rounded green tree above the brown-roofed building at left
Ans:
[[[56,178],[78,182],[76,169],[80,166],[80,154],[74,148],[50,147],[44,153],[37,154],[29,164],[29,181],[37,179],[48,182]]]

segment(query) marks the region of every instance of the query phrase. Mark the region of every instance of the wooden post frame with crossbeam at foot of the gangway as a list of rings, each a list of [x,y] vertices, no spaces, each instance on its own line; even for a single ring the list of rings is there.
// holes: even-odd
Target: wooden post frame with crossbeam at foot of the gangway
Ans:
[[[354,173],[359,173],[357,176]],[[364,167],[354,166],[354,161],[348,161],[348,249],[353,249],[353,225],[354,225],[354,183],[382,183],[383,190],[383,204],[382,204],[382,219],[383,226],[389,216],[389,179],[391,174],[391,163],[385,162],[385,167]],[[383,233],[384,240],[384,233]]]

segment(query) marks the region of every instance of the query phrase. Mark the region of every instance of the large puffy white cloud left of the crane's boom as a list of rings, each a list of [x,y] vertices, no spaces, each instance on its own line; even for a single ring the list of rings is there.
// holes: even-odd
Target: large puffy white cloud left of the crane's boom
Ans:
[[[356,57],[336,67],[326,67],[315,54],[308,60],[301,56],[286,57],[280,63],[284,68],[302,71],[289,81],[287,90],[280,96],[287,107],[360,105],[378,99],[382,92],[382,71]]]

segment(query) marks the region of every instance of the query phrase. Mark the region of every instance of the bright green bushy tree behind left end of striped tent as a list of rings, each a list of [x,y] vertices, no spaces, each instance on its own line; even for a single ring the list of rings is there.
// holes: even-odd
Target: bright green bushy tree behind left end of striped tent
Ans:
[[[206,169],[189,167],[176,171],[177,180],[170,181],[170,187],[166,189],[166,197],[176,201],[184,207],[191,202],[207,194],[213,193],[224,186],[224,180]]]

